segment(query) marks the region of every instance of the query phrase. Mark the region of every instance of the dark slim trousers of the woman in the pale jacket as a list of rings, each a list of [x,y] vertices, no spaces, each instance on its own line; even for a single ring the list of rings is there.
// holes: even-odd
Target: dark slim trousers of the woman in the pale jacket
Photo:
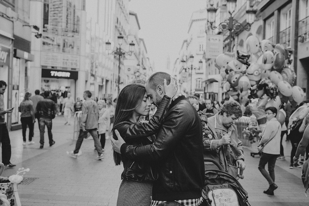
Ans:
[[[262,152],[259,163],[259,170],[266,178],[269,185],[275,183],[275,164],[279,155],[267,154]],[[268,172],[265,170],[265,165],[268,163]]]

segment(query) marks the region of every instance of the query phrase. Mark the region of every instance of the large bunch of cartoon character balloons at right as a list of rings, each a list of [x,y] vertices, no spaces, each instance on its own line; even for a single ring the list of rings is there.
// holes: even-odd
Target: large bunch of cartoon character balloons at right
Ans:
[[[258,98],[256,104],[249,104],[258,120],[262,116],[265,119],[265,107],[273,106],[279,111],[283,102],[297,105],[304,101],[303,89],[294,86],[296,74],[291,66],[291,49],[270,40],[259,41],[256,36],[249,36],[246,45],[247,54],[237,51],[234,57],[232,53],[224,53],[215,59],[223,78],[222,86],[234,100],[244,107],[249,99]],[[283,124],[284,115],[278,112],[277,116],[283,116],[280,118]]]

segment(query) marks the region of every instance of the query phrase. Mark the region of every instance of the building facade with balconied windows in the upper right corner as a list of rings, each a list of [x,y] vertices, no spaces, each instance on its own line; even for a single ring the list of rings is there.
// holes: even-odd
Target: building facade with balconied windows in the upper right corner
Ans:
[[[296,85],[309,96],[309,3],[307,0],[261,1],[258,5],[264,23],[263,38],[293,49],[291,58]]]

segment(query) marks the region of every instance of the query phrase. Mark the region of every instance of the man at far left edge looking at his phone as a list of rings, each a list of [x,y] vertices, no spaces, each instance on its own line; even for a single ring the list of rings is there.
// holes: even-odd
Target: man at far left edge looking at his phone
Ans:
[[[14,167],[10,162],[11,159],[11,141],[9,131],[7,130],[5,122],[5,114],[11,113],[14,108],[4,110],[4,97],[3,94],[6,90],[6,82],[0,81],[0,142],[2,144],[2,163],[6,167]]]

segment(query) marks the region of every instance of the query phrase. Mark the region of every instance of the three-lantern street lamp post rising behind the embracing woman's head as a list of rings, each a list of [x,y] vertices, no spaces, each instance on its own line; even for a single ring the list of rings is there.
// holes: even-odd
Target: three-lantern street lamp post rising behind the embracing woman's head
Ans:
[[[120,92],[120,88],[119,88],[119,85],[120,85],[120,64],[121,64],[121,57],[125,56],[125,54],[128,54],[128,55],[132,55],[133,51],[134,51],[134,43],[133,41],[129,44],[129,52],[125,52],[122,48],[121,48],[121,45],[122,45],[122,42],[123,42],[123,36],[120,34],[118,37],[118,44],[119,44],[119,47],[116,47],[116,51],[112,51],[111,54],[114,54],[114,56],[118,56],[118,77],[117,77],[117,91],[118,93]],[[111,42],[107,41],[105,42],[106,44],[106,50],[107,51],[110,51],[111,50]]]

